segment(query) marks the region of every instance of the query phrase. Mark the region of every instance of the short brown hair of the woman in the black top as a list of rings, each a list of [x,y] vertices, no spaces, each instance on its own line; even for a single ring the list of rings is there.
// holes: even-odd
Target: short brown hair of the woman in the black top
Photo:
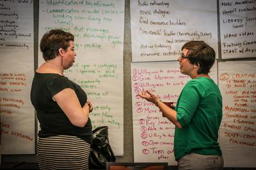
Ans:
[[[40,50],[44,60],[54,59],[60,48],[67,50],[70,41],[74,41],[74,36],[70,32],[61,29],[52,29],[46,32],[40,41]]]

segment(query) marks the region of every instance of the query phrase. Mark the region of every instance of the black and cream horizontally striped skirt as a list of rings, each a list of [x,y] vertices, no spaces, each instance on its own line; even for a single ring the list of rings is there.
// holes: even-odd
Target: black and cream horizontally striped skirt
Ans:
[[[40,169],[89,169],[90,144],[76,136],[38,138]]]

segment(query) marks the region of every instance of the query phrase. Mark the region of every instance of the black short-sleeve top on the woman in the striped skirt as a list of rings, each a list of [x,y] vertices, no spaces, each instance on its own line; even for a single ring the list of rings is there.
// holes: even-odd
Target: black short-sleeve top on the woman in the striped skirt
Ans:
[[[81,106],[86,104],[87,96],[83,89],[65,76],[54,73],[35,73],[31,87],[31,103],[35,107],[40,122],[40,138],[70,135],[92,143],[92,123],[90,118],[84,127],[73,125],[52,97],[63,89],[76,92]]]

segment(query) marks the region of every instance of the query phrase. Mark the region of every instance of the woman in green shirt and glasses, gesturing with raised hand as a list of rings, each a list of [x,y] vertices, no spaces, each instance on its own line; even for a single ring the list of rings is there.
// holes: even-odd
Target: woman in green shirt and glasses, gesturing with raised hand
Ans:
[[[174,155],[179,170],[223,169],[218,143],[222,118],[222,97],[218,85],[208,75],[215,52],[204,41],[189,41],[182,46],[180,73],[191,77],[180,93],[175,108],[146,90],[140,97],[155,103],[164,117],[175,124]]]

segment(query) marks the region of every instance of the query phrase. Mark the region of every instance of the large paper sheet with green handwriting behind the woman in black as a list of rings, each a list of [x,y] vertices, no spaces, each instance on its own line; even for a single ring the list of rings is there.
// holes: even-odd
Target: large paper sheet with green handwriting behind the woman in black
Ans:
[[[93,128],[107,125],[115,155],[123,155],[124,1],[40,1],[39,10],[39,39],[51,29],[74,34],[76,62],[65,75],[92,101]]]

